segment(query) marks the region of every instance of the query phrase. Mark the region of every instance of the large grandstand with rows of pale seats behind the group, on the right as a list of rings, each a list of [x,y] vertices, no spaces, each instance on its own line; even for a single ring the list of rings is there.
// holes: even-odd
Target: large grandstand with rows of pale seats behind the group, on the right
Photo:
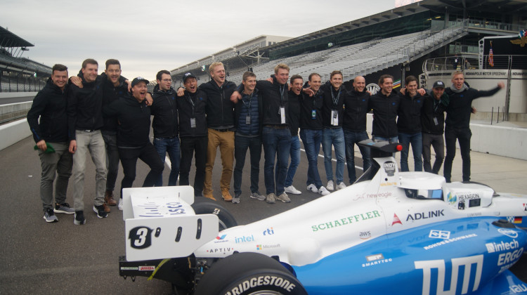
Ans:
[[[471,65],[466,70],[485,69],[482,60],[488,59],[488,50],[484,56],[482,38],[517,35],[527,27],[525,0],[411,2],[271,45],[249,40],[172,70],[174,86],[181,86],[186,72],[195,74],[200,82],[209,81],[207,66],[214,61],[226,65],[227,79],[235,83],[241,82],[247,70],[265,79],[273,74],[277,63],[286,63],[291,67],[290,74],[307,77],[318,72],[323,81],[333,70],[341,70],[348,86],[356,75],[365,76],[366,84],[375,85],[382,73],[392,74],[398,82],[412,74],[422,77],[422,86],[427,86],[426,79],[434,76],[431,72],[452,72],[455,58],[461,61],[456,65],[459,70],[465,70],[465,60]],[[238,49],[241,47],[247,50]],[[521,58],[516,55],[514,60],[525,60],[525,48]],[[497,60],[512,60],[512,55],[506,55],[511,53],[500,54]],[[526,68],[523,62],[502,64],[508,69]],[[527,112],[527,108],[516,111]]]

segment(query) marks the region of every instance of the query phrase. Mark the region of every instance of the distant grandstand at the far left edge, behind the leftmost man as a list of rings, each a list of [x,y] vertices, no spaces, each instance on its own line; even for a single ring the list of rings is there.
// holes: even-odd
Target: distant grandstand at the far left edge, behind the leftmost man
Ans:
[[[46,85],[51,67],[20,57],[32,46],[0,27],[0,92],[34,92]]]

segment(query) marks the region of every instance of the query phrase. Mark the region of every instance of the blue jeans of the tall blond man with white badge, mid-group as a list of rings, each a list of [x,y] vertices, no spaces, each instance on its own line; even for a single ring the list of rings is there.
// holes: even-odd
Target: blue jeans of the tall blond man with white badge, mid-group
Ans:
[[[275,192],[276,195],[284,192],[285,176],[287,175],[287,162],[291,148],[291,132],[289,129],[275,129],[263,126],[261,134],[263,143],[264,164],[263,179],[266,183],[266,194]],[[275,158],[278,158],[278,176],[275,183]],[[275,186],[276,185],[276,186]]]

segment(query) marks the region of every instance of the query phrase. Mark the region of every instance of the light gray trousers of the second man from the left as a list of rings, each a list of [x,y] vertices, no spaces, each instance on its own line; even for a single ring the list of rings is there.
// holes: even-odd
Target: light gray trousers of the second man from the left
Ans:
[[[86,155],[89,152],[95,164],[95,198],[94,204],[104,203],[106,189],[106,151],[103,136],[100,131],[75,131],[77,151],[73,154],[73,202],[75,211],[84,210],[84,173],[86,171]]]

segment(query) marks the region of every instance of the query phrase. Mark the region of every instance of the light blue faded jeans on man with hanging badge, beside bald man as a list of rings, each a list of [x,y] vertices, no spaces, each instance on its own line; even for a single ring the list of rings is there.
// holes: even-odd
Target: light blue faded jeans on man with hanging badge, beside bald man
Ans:
[[[346,160],[346,148],[344,145],[344,131],[342,128],[330,129],[325,128],[322,131],[322,150],[324,152],[324,167],[326,170],[327,181],[333,180],[333,166],[331,163],[332,148],[335,150],[337,158],[337,167],[335,169],[335,178],[339,184],[344,182],[344,162]]]

